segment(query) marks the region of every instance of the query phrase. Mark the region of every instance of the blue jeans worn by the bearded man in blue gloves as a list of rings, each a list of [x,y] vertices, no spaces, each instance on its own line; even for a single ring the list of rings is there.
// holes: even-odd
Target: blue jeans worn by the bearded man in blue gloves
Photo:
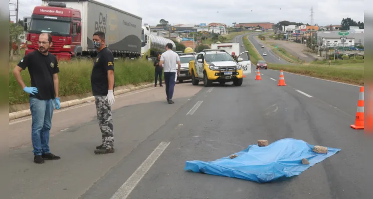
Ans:
[[[53,100],[38,100],[30,97],[32,116],[31,141],[34,155],[50,153],[49,131],[52,127]]]

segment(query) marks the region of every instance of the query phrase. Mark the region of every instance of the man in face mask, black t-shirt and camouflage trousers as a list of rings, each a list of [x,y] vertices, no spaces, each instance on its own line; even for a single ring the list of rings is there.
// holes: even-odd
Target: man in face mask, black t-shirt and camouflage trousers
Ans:
[[[92,93],[96,101],[97,120],[102,133],[102,144],[95,154],[114,153],[113,117],[111,105],[114,103],[114,56],[105,44],[105,33],[93,34],[93,46],[97,57],[91,75]]]

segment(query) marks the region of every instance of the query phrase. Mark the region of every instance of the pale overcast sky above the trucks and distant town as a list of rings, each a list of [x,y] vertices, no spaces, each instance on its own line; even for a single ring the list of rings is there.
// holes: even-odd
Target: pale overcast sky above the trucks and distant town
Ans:
[[[164,18],[171,24],[221,22],[273,22],[281,20],[314,23],[321,26],[341,24],[342,18],[364,21],[364,7],[371,0],[98,0],[143,18],[143,24],[156,25]],[[16,2],[16,0],[10,0]],[[30,16],[41,0],[19,0],[19,18]],[[14,5],[9,5],[14,10]],[[15,14],[10,11],[10,14]],[[15,17],[12,17],[15,19]]]

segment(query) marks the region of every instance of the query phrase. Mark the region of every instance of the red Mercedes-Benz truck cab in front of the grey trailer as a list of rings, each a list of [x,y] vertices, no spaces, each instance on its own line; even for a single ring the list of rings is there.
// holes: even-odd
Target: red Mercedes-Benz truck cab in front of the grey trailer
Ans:
[[[25,54],[38,50],[37,41],[43,32],[52,35],[49,52],[57,59],[70,60],[81,47],[81,13],[78,9],[68,8],[64,2],[49,2],[48,6],[36,6],[31,15],[27,31]]]

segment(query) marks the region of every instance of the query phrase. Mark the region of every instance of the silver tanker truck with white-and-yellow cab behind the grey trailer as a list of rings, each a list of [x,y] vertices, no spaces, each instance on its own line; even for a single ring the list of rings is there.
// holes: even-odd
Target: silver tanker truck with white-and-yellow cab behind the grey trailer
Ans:
[[[167,43],[172,43],[173,51],[176,51],[175,42],[171,39],[151,34],[149,25],[144,25],[141,32],[141,57],[145,60],[154,60],[158,54],[166,51]]]

